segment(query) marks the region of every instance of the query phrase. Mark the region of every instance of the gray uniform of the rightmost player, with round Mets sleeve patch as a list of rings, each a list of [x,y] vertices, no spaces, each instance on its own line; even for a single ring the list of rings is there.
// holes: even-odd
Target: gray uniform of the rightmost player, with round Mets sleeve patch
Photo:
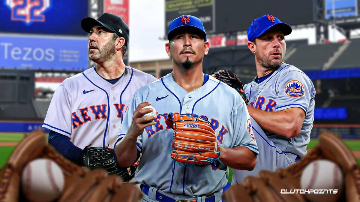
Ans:
[[[275,171],[288,167],[298,156],[304,156],[314,121],[314,85],[305,73],[294,66],[282,64],[260,84],[255,80],[246,84],[244,91],[249,98],[248,104],[257,109],[273,112],[299,107],[306,116],[300,134],[294,138],[264,132],[251,118],[259,148],[257,162],[252,171],[233,169],[232,184],[241,183],[249,175],[256,176],[260,170]]]

